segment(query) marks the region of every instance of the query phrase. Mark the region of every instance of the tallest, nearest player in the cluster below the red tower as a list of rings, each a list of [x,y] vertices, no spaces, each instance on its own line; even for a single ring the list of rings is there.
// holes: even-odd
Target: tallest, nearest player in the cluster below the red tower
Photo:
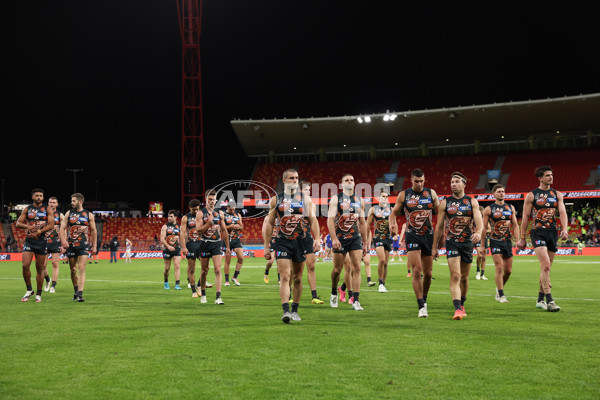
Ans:
[[[215,210],[217,203],[217,193],[213,189],[206,191],[206,207],[198,211],[196,221],[202,225],[198,227],[200,234],[200,294],[201,303],[206,302],[206,277],[208,275],[209,261],[213,261],[213,270],[215,272],[215,304],[223,305],[225,302],[221,298],[221,262],[223,259],[222,243],[225,243],[225,256],[231,255],[229,250],[229,235],[225,226],[225,216],[223,211]]]

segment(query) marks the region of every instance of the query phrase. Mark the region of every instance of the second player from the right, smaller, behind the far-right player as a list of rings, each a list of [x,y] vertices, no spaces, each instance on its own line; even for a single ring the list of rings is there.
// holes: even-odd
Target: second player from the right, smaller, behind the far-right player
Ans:
[[[508,303],[504,295],[504,285],[512,273],[512,239],[510,227],[512,225],[515,237],[519,237],[519,223],[515,208],[504,202],[504,186],[494,185],[492,193],[496,201],[483,210],[483,226],[491,227],[489,248],[496,268],[496,301]]]

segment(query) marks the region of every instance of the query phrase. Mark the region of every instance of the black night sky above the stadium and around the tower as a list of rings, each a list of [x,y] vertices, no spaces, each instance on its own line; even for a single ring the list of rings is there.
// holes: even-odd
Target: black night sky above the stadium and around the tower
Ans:
[[[77,190],[90,200],[179,208],[175,0],[13,3],[2,5],[5,203],[29,199],[36,186],[66,201],[73,190],[66,169],[80,168]],[[591,9],[404,3],[205,1],[205,155],[220,171],[207,186],[249,178],[253,161],[233,133],[234,118],[600,92]]]

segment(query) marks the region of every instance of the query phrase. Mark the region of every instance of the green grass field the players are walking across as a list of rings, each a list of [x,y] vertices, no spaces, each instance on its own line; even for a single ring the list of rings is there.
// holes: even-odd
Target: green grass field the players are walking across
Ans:
[[[329,307],[331,263],[320,262],[325,304],[310,304],[305,278],[303,320],[289,325],[275,269],[262,280],[263,259],[245,260],[224,306],[214,288],[208,304],[175,291],[173,271],[164,290],[160,259],[89,264],[86,302],[74,303],[60,267],[56,294],[21,303],[20,263],[0,264],[1,399],[600,398],[599,257],[556,259],[558,313],[535,308],[534,257],[515,257],[508,304],[494,300],[493,266],[488,281],[473,268],[462,321],[452,319],[444,258],[427,319],[417,318],[405,264],[390,265],[388,293],[367,288],[363,268],[365,310],[356,312]]]

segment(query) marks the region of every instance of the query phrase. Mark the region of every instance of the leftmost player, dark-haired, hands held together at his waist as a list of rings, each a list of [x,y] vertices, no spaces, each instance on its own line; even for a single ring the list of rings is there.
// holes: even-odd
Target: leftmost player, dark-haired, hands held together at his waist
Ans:
[[[23,244],[23,279],[27,291],[21,301],[28,301],[33,296],[33,288],[31,286],[31,262],[35,257],[35,280],[37,283],[37,292],[35,296],[36,303],[42,301],[42,290],[44,286],[44,263],[46,261],[47,245],[46,232],[54,229],[55,209],[47,207],[43,204],[44,190],[33,189],[31,191],[31,199],[33,205],[27,206],[21,212],[17,220],[17,228],[26,229],[27,237]]]

